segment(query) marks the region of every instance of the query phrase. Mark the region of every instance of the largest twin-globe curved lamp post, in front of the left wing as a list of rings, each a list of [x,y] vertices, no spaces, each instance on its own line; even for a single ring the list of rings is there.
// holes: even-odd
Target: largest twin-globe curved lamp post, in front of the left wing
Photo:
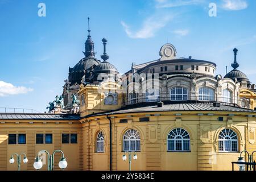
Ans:
[[[43,167],[43,162],[42,162],[42,160],[39,158],[39,154],[41,153],[41,152],[45,152],[46,154],[47,154],[47,161],[48,161],[48,171],[53,171],[53,166],[54,166],[54,154],[56,153],[56,152],[60,152],[61,153],[61,158],[60,158],[60,162],[59,162],[59,167],[61,168],[61,169],[65,169],[65,168],[67,168],[67,166],[68,166],[68,163],[67,163],[67,161],[66,161],[66,159],[64,158],[64,153],[63,153],[63,151],[61,151],[61,150],[55,150],[55,151],[53,151],[53,153],[52,153],[52,155],[50,155],[49,154],[49,152],[48,151],[46,151],[46,150],[41,150],[41,151],[39,151],[38,152],[38,156],[35,158],[35,162],[34,162],[34,164],[33,164],[33,167],[36,169],[36,170],[39,170],[40,168],[42,168]]]

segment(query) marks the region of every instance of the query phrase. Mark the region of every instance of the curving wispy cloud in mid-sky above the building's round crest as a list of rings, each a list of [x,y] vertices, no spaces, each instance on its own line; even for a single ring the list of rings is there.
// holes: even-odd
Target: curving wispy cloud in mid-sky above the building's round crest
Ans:
[[[125,32],[130,38],[147,39],[153,37],[155,32],[166,26],[171,19],[171,15],[161,17],[151,16],[150,18],[144,20],[142,28],[135,32],[132,32],[130,27],[125,22],[122,21],[121,24],[123,28],[125,28]]]

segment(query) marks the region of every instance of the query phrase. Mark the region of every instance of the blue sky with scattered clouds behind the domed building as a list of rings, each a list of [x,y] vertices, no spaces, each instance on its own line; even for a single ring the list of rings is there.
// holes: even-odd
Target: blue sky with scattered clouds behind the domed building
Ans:
[[[46,17],[38,16],[41,2]],[[216,17],[208,15],[211,2]],[[239,69],[256,83],[254,0],[0,0],[0,107],[46,111],[62,93],[68,67],[84,56],[88,16],[96,57],[105,37],[121,73],[132,62],[158,59],[168,41],[177,56],[213,61],[222,76],[237,47]]]

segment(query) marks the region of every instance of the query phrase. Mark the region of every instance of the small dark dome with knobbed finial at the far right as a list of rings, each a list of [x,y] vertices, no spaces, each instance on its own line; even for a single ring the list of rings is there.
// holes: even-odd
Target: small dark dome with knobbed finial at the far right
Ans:
[[[245,73],[239,71],[237,68],[239,67],[239,64],[237,63],[237,52],[238,49],[234,48],[234,63],[232,63],[232,67],[234,68],[232,71],[230,71],[228,74],[225,75],[224,78],[231,78],[232,80],[235,80],[237,78],[237,81],[249,81]]]

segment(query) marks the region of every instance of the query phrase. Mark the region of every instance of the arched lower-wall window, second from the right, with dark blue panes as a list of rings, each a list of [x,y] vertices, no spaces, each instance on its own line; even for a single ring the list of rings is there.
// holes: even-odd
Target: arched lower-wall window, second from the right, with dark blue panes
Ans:
[[[168,151],[190,151],[190,137],[186,130],[173,129],[167,138]]]

